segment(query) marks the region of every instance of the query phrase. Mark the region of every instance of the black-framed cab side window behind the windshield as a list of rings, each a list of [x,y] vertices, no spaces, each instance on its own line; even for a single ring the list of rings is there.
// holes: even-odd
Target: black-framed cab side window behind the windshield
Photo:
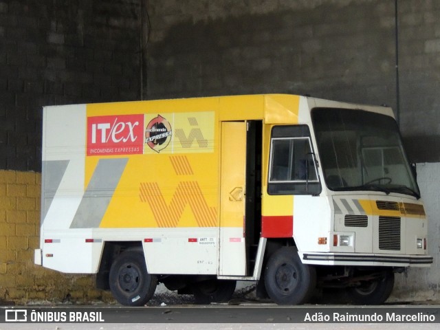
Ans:
[[[274,126],[270,145],[270,195],[318,195],[321,191],[309,127]]]

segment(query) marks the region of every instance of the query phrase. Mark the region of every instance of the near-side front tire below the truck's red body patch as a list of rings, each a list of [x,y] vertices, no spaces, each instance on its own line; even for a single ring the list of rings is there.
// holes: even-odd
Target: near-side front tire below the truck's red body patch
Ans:
[[[264,282],[267,294],[278,305],[300,305],[314,293],[316,269],[301,262],[295,247],[285,247],[270,256]]]

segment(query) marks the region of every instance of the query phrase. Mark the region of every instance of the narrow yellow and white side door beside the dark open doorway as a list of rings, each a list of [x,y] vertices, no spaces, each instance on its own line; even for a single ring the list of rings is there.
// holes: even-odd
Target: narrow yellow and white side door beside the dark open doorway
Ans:
[[[246,122],[221,123],[219,275],[244,276]]]

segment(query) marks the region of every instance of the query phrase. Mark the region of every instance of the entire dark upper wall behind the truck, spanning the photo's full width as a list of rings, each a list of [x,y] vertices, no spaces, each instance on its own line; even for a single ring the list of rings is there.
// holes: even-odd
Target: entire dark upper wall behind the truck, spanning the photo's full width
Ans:
[[[0,0],[0,169],[41,171],[43,106],[256,93],[388,104],[439,162],[439,53],[435,0]]]

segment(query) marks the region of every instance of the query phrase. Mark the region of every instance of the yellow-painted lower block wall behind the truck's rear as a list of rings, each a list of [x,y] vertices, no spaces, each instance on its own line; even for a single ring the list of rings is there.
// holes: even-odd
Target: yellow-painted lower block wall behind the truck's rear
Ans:
[[[94,276],[61,274],[34,265],[40,246],[41,174],[0,170],[1,303],[112,301]]]

